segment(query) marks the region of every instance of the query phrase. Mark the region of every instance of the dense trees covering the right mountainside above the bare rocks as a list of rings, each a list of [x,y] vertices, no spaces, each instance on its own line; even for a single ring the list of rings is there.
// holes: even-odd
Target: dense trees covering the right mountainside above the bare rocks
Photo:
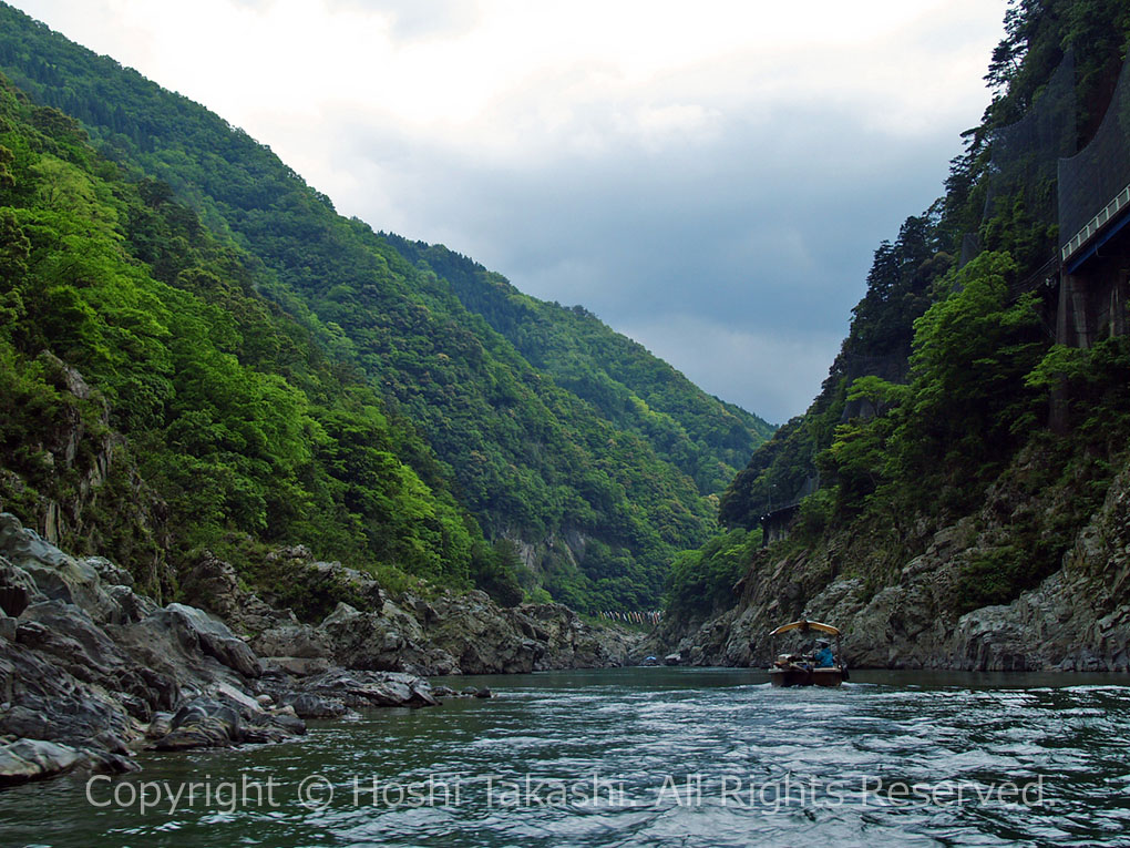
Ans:
[[[857,576],[873,595],[964,521],[982,546],[959,568],[953,612],[1008,603],[1060,566],[1127,457],[1130,339],[1099,327],[1094,344],[1057,344],[1052,285],[1072,235],[1059,232],[1057,164],[1107,111],[1130,7],[1010,0],[1005,28],[991,102],[963,133],[944,196],[875,251],[819,395],[721,499],[731,528],[797,504],[791,537],[768,556],[800,554],[797,573],[818,562],[811,590]],[[670,603],[732,605],[722,583],[734,569],[719,564],[730,548],[715,539],[677,570]],[[750,563],[750,574],[764,568],[754,551]]]

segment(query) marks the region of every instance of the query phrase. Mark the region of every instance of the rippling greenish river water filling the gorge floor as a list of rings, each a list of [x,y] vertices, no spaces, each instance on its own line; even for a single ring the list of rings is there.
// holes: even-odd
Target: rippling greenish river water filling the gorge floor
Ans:
[[[1130,845],[1124,675],[766,680],[457,678],[496,696],[0,793],[0,845]]]

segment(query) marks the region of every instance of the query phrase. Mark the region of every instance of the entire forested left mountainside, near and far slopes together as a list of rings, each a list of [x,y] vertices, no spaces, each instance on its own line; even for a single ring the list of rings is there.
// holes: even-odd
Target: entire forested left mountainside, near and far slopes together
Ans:
[[[246,133],[7,6],[0,70],[0,500],[71,547],[157,570],[168,550],[172,587],[200,547],[303,543],[640,608],[770,430],[583,311],[342,218]],[[60,388],[69,367],[99,400]],[[49,412],[105,440],[84,449],[103,470],[47,458]]]

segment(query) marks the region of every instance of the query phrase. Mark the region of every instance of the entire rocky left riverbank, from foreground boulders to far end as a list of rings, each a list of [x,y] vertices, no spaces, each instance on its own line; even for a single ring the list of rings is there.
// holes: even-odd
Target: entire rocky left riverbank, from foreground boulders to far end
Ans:
[[[339,603],[302,623],[210,555],[186,581],[209,609],[158,606],[124,569],[0,514],[0,786],[131,771],[141,747],[277,742],[304,734],[306,718],[434,706],[425,674],[617,665],[632,647],[559,605],[503,609],[481,592],[393,602],[302,548],[278,555],[363,608]]]

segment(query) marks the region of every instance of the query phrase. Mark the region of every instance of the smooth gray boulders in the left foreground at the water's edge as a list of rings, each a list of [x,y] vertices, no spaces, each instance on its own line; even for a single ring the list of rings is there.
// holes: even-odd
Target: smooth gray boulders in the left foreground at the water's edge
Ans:
[[[315,709],[308,699],[319,696],[435,703],[411,675],[322,669],[297,683],[273,666],[264,674],[224,622],[182,604],[158,607],[131,582],[113,563],[68,556],[0,514],[0,786],[129,771],[145,745],[281,741],[305,732],[296,700],[310,715],[340,715]]]

